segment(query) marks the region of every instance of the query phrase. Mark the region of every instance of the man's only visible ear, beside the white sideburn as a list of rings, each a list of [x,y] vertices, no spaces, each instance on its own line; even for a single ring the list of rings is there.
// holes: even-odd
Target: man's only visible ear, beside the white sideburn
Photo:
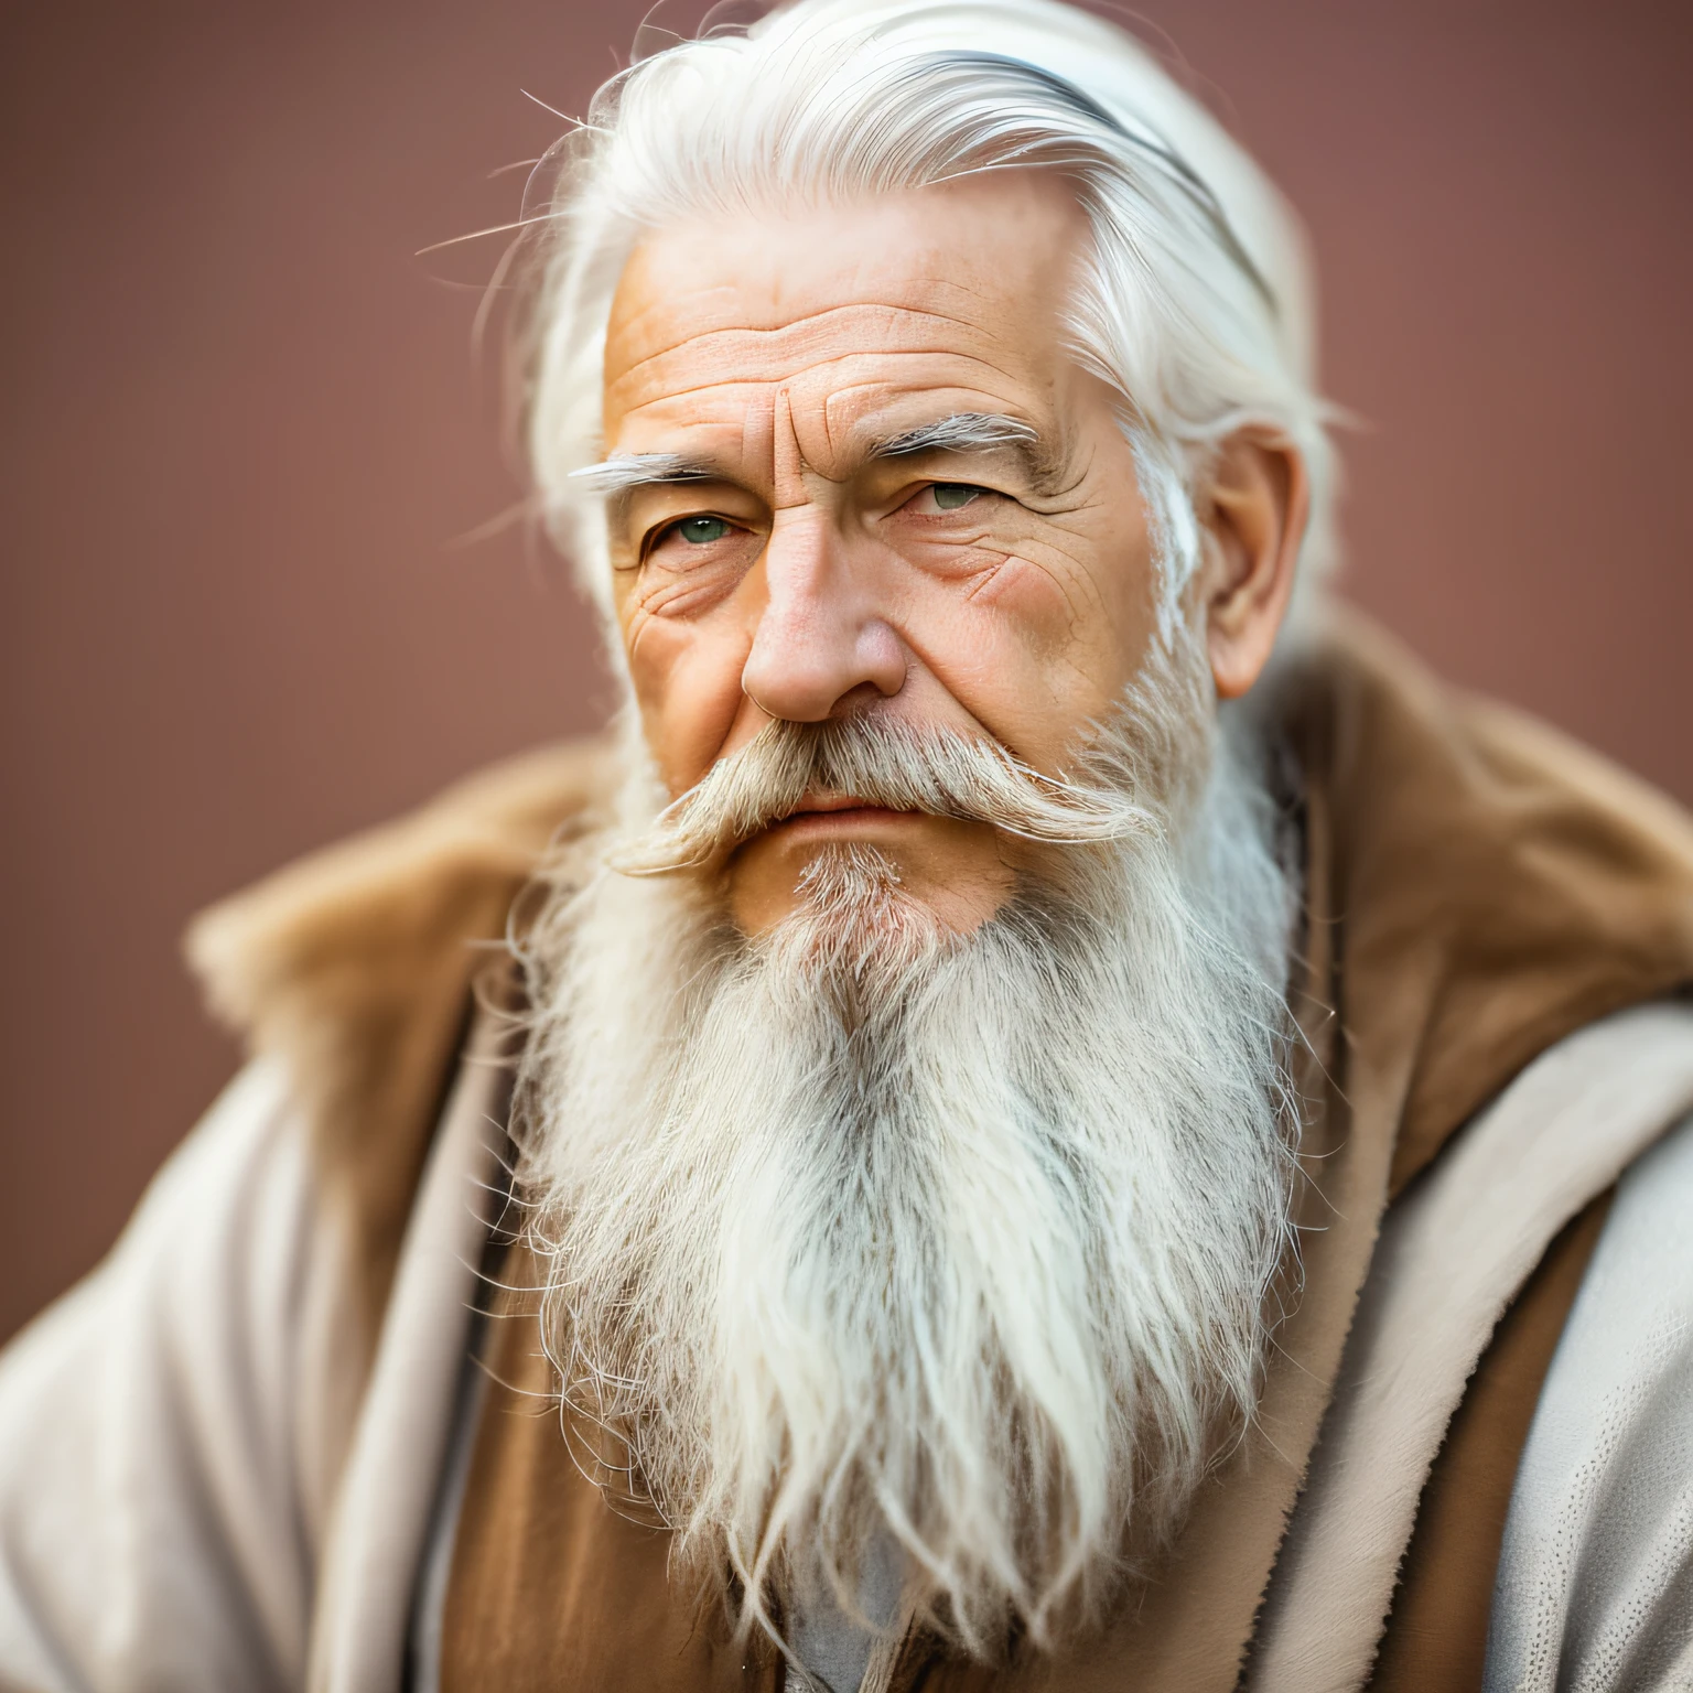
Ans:
[[[1209,545],[1199,579],[1221,699],[1244,694],[1270,662],[1309,511],[1305,460],[1287,440],[1244,428],[1222,442],[1202,511]]]

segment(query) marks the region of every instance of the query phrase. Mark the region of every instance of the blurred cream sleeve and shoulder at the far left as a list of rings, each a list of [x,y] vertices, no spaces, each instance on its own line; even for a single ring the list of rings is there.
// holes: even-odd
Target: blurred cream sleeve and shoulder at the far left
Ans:
[[[303,1683],[323,1530],[303,1346],[334,1280],[286,1075],[254,1063],[0,1363],[0,1685]]]

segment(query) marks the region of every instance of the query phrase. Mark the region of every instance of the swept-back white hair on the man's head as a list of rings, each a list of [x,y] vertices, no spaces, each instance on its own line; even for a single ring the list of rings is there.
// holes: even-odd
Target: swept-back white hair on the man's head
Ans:
[[[527,447],[547,525],[601,609],[601,511],[569,477],[599,457],[606,323],[642,234],[1017,166],[1062,174],[1090,223],[1070,342],[1121,396],[1166,643],[1200,559],[1207,464],[1241,427],[1304,457],[1297,598],[1326,572],[1336,467],[1297,220],[1111,24],[1056,0],[799,0],[615,76],[555,163],[550,203],[525,208],[545,251],[527,318]]]

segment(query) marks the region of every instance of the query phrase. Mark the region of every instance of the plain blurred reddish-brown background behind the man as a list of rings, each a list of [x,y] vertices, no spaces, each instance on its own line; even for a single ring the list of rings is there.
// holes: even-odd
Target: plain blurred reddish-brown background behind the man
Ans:
[[[648,0],[8,7],[0,1336],[237,1063],[201,904],[591,728],[471,323]],[[657,22],[691,30],[703,5]],[[1693,8],[1148,0],[1309,222],[1344,591],[1693,799]]]

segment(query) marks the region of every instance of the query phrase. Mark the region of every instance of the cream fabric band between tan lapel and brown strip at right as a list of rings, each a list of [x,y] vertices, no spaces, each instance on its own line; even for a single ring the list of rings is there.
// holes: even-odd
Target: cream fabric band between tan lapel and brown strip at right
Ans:
[[[1388,1214],[1270,1583],[1253,1693],[1366,1685],[1422,1485],[1500,1315],[1558,1231],[1690,1109],[1693,1007],[1607,1017],[1529,1065]]]

